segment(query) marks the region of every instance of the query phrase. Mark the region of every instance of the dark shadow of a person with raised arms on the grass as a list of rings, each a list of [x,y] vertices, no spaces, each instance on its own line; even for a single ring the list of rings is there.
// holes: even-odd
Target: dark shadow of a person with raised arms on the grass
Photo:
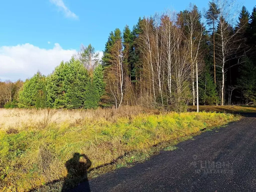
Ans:
[[[80,157],[83,157],[83,160],[80,161]],[[81,181],[84,181],[84,192],[90,192],[89,181],[87,178],[88,169],[91,166],[91,161],[85,154],[74,153],[73,157],[69,159],[65,166],[68,171],[68,175],[64,180],[64,184],[62,186],[62,192],[69,191],[68,188],[78,184]]]

